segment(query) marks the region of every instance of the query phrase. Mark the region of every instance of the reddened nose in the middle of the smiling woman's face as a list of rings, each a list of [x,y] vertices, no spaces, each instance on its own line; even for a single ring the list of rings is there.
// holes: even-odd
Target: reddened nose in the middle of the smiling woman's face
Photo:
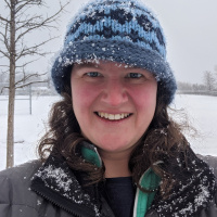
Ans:
[[[122,80],[111,79],[103,88],[102,102],[110,106],[118,106],[128,101],[128,94]]]

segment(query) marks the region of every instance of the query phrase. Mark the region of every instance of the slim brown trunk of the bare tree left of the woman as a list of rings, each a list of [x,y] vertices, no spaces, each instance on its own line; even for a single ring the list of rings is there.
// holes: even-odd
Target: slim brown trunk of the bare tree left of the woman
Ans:
[[[7,137],[7,168],[14,165],[14,103],[15,103],[15,0],[11,0],[10,23],[10,86]]]

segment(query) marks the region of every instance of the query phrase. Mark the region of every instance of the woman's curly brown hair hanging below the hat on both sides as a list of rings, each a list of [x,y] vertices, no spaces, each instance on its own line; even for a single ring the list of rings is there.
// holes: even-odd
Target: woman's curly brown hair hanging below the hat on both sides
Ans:
[[[38,146],[38,153],[41,161],[52,152],[56,156],[66,159],[69,167],[79,173],[87,174],[89,184],[99,183],[104,179],[105,167],[101,168],[84,161],[79,153],[79,143],[87,141],[81,133],[76,119],[72,104],[69,77],[66,77],[64,93],[62,100],[54,103],[49,119],[49,131],[42,137]],[[129,169],[132,173],[135,183],[144,192],[139,184],[143,173],[151,167],[156,175],[161,177],[161,192],[165,196],[175,184],[176,178],[174,171],[167,169],[164,165],[169,158],[176,158],[180,152],[184,154],[188,142],[181,133],[181,126],[175,123],[168,115],[168,105],[165,104],[163,84],[157,84],[156,110],[149,129],[138,141],[131,153]],[[165,164],[156,164],[164,162]]]

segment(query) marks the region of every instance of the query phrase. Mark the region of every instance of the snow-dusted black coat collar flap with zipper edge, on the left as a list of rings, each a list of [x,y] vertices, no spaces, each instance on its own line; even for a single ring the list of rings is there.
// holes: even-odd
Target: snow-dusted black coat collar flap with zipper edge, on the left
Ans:
[[[100,216],[99,206],[84,191],[64,158],[49,156],[31,179],[31,190],[76,216]]]

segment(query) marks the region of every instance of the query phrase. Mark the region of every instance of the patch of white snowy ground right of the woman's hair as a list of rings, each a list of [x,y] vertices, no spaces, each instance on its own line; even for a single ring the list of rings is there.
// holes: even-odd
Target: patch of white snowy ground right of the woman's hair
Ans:
[[[217,97],[176,95],[175,108],[183,108],[188,119],[197,130],[195,138],[187,135],[192,149],[203,155],[217,156]]]

